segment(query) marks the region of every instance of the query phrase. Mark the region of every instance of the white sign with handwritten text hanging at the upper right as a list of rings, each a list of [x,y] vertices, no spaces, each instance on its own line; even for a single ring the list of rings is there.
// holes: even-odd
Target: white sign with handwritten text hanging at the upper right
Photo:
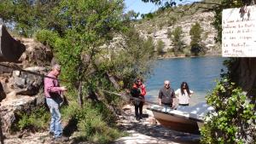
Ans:
[[[223,10],[222,56],[256,57],[256,5]]]

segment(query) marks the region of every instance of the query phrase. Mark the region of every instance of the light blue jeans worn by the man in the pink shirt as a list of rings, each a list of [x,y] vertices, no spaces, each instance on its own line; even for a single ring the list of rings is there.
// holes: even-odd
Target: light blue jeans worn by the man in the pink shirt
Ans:
[[[60,137],[62,135],[61,112],[59,110],[60,102],[51,98],[46,98],[46,103],[51,114],[49,131],[54,132],[55,137]]]

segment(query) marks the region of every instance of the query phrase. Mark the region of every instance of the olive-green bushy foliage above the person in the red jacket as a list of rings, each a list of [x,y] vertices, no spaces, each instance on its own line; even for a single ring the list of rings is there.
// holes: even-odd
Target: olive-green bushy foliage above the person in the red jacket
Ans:
[[[145,78],[151,72],[155,59],[154,42],[152,37],[144,40],[135,29],[125,32],[123,37],[125,45],[117,45],[119,50],[113,49],[111,59],[104,60],[99,67],[108,68],[108,72],[122,79],[124,88],[130,89],[132,79]]]

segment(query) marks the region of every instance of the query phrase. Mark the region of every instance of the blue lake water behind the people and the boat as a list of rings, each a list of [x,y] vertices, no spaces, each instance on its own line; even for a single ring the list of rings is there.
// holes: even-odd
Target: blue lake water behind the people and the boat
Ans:
[[[180,88],[186,81],[189,89],[194,91],[190,99],[193,106],[201,101],[206,101],[205,96],[212,91],[216,80],[220,78],[223,66],[222,57],[192,57],[158,60],[154,67],[154,74],[145,82],[147,88],[147,101],[158,101],[159,89],[164,81],[170,80],[172,89]]]

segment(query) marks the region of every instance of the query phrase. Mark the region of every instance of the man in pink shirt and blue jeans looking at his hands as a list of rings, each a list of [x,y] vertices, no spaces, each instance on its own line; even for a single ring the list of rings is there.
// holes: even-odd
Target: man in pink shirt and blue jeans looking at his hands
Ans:
[[[60,73],[60,65],[56,64],[52,67],[52,70],[47,75],[50,78],[44,78],[44,95],[51,114],[49,134],[54,135],[57,141],[66,141],[67,137],[62,136],[61,112],[59,108],[62,101],[61,94],[67,89],[61,87],[57,80]]]

